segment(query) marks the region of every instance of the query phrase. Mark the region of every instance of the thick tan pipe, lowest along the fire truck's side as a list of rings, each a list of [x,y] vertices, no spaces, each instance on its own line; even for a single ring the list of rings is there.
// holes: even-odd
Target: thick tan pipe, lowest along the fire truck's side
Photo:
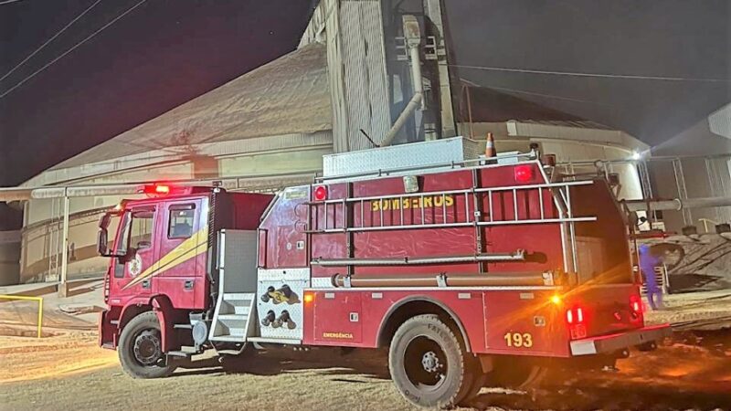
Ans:
[[[553,279],[546,273],[505,273],[502,276],[432,276],[432,277],[393,277],[349,279],[351,287],[439,287],[440,282],[447,287],[490,287],[490,286],[552,286]],[[335,287],[345,287],[345,275],[333,277]]]

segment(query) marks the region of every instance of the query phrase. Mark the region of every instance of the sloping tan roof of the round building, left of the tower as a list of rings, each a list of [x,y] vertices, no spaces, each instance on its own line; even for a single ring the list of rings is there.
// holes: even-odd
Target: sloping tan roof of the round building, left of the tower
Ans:
[[[194,149],[333,128],[326,49],[311,44],[233,79],[108,142],[59,163],[68,168],[160,149]]]

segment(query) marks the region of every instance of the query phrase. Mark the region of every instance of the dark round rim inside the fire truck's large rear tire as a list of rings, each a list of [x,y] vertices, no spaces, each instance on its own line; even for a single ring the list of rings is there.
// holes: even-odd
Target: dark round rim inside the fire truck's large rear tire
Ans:
[[[438,342],[426,335],[419,335],[406,346],[404,369],[408,381],[419,390],[438,390],[447,381],[447,354]]]

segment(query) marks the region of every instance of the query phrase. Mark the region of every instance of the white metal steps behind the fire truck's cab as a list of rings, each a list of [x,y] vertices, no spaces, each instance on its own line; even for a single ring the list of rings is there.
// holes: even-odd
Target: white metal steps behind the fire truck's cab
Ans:
[[[256,331],[256,294],[228,292],[218,295],[209,339],[220,342],[246,342]]]

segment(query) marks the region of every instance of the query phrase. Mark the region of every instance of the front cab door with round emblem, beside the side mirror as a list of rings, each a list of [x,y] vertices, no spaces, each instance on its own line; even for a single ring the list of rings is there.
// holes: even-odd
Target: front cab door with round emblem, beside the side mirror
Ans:
[[[153,291],[157,247],[155,207],[143,205],[124,213],[115,247],[126,257],[114,258],[110,282],[111,303],[149,298]]]

